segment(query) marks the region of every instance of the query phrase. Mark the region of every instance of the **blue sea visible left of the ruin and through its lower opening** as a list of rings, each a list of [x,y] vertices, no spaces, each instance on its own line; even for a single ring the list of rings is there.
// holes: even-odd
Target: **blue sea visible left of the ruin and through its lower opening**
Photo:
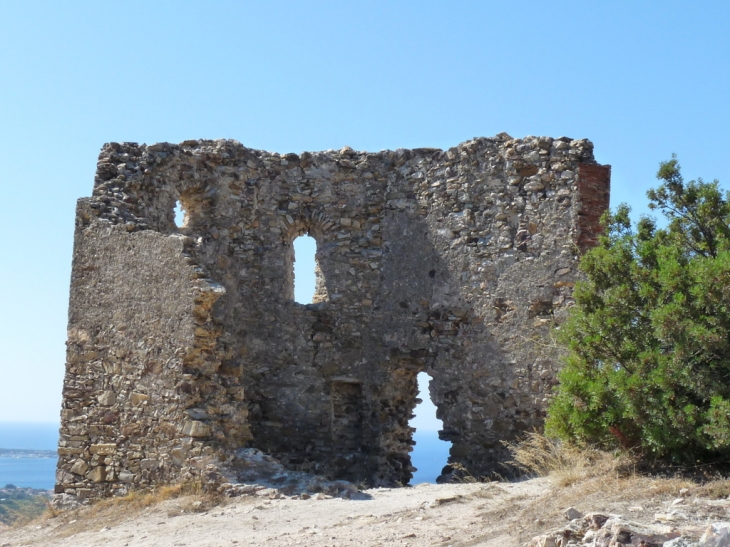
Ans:
[[[411,460],[418,469],[411,484],[434,483],[446,465],[451,443],[439,440],[436,431],[418,430]],[[15,450],[56,450],[58,424],[0,422],[0,448]],[[0,488],[12,484],[19,488],[51,490],[55,483],[56,457],[7,457],[0,455]]]

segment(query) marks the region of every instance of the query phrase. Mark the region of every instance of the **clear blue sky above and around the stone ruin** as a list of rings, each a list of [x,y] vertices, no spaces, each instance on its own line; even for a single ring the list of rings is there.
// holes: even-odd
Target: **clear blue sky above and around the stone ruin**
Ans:
[[[279,152],[589,138],[613,203],[730,183],[730,3],[0,5],[0,421],[61,401],[75,201],[108,141]]]

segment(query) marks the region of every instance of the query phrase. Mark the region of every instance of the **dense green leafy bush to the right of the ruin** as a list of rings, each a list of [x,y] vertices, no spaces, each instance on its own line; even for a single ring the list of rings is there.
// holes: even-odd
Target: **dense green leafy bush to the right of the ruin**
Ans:
[[[650,218],[621,205],[581,260],[548,434],[688,462],[730,455],[730,196],[661,164]]]

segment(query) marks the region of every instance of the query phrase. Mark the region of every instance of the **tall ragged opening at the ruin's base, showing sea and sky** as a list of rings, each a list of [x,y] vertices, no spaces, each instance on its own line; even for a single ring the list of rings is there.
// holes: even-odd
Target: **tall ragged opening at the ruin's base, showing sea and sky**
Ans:
[[[414,485],[422,482],[435,483],[449,459],[451,449],[450,442],[442,441],[438,437],[443,423],[436,418],[436,406],[429,394],[428,386],[432,379],[425,372],[418,374],[418,398],[421,402],[413,411],[415,416],[408,422],[408,425],[416,429],[413,433],[416,445],[411,452],[411,465],[418,469],[410,481]]]

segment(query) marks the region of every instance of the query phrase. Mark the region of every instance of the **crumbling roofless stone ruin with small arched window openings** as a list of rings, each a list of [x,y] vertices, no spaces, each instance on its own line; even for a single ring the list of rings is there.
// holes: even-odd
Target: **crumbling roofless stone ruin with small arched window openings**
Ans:
[[[499,471],[502,441],[543,423],[551,328],[609,179],[590,141],[565,137],[106,144],[77,207],[56,491],[215,483],[243,447],[407,484],[422,371],[449,464]],[[302,234],[317,242],[308,305],[293,299]]]

